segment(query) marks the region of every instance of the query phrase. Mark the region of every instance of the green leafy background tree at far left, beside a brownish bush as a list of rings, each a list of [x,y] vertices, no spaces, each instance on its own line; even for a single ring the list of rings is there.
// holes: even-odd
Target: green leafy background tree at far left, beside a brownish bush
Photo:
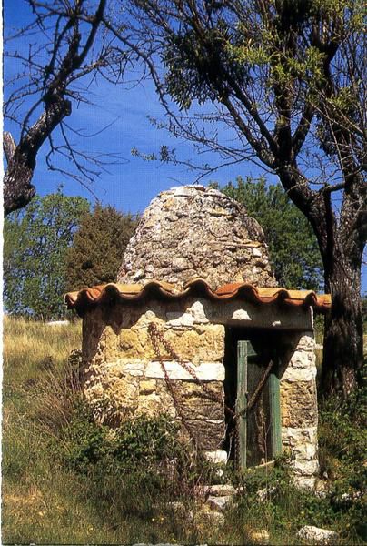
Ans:
[[[4,223],[4,303],[15,315],[59,319],[65,314],[66,250],[81,217],[89,210],[82,197],[60,191],[35,196],[25,211]]]

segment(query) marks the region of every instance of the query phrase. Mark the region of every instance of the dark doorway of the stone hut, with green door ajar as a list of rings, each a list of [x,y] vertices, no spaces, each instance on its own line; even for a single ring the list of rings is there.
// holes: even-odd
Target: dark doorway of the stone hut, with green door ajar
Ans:
[[[224,449],[242,469],[281,452],[281,415],[276,333],[226,328],[224,352],[227,412]],[[236,423],[236,424],[235,424]]]

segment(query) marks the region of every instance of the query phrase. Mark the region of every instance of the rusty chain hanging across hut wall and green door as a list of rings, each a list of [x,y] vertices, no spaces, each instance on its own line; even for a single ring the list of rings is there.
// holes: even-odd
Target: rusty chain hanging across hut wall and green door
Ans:
[[[178,362],[178,364],[180,364],[180,366],[182,366],[182,368],[185,369],[191,375],[191,377],[193,378],[193,380],[194,380],[194,382],[196,384],[200,385],[200,387],[203,389],[203,392],[207,395],[207,397],[209,399],[211,399],[214,402],[218,402],[221,405],[223,404],[223,399],[216,396],[213,393],[213,391],[211,389],[209,389],[208,386],[201,379],[199,379],[196,372],[186,362],[184,362],[183,359],[181,359],[177,355],[177,353],[175,352],[172,345],[164,338],[163,333],[157,328],[157,325],[154,322],[149,323],[149,325],[148,325],[148,334],[149,334],[150,339],[152,341],[155,356],[158,359],[158,361],[160,363],[160,366],[161,366],[161,369],[163,371],[164,379],[165,379],[165,382],[167,384],[167,388],[169,389],[169,391],[171,393],[171,396],[172,396],[172,399],[174,400],[174,408],[177,411],[178,415],[180,416],[181,420],[183,421],[183,425],[184,425],[185,429],[188,431],[191,439],[198,446],[199,443],[197,441],[197,438],[193,434],[193,430],[191,429],[190,425],[188,424],[186,418],[183,415],[183,410],[181,409],[181,405],[180,405],[179,400],[177,398],[177,394],[174,391],[173,380],[169,377],[169,375],[167,373],[167,370],[165,369],[164,360],[162,358],[161,351],[159,349],[158,341],[160,341],[162,343],[162,345],[164,346],[164,349],[168,352],[168,354],[171,356],[171,358],[174,359],[176,362]],[[244,410],[242,410],[240,412],[236,412],[236,411],[233,411],[233,409],[230,408],[229,406],[227,406],[225,403],[223,404],[224,410],[227,411],[231,415],[232,419],[234,420],[234,444],[235,444],[235,454],[236,454],[236,458],[237,458],[237,460],[236,460],[237,465],[238,465],[238,456],[239,456],[239,452],[240,452],[239,451],[240,439],[239,439],[239,426],[238,426],[239,418],[243,417],[243,415],[245,415],[247,412],[249,412],[250,410],[253,409],[253,406],[254,406],[256,400],[259,398],[259,396],[260,396],[260,394],[261,394],[261,392],[263,390],[263,386],[265,385],[266,380],[268,379],[268,377],[270,375],[270,372],[272,371],[272,368],[273,368],[273,360],[270,360],[268,366],[266,367],[266,369],[265,369],[265,371],[263,373],[262,379],[260,379],[256,389],[253,391],[253,395],[252,395],[251,399],[248,400]]]

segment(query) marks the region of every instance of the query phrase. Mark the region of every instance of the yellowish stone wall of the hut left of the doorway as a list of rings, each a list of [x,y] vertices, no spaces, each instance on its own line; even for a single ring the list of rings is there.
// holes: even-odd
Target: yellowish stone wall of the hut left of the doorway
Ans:
[[[154,310],[152,310],[154,308]],[[126,313],[121,305],[95,308],[84,318],[84,393],[95,416],[111,425],[133,415],[160,413],[177,418],[177,409],[167,389],[164,371],[156,359],[147,327],[155,324],[177,354],[213,393],[210,399],[193,377],[164,353],[164,368],[185,420],[200,439],[203,450],[217,450],[224,439],[223,380],[224,327],[196,324],[187,328],[162,317],[164,308]],[[165,315],[166,318],[166,315]],[[95,327],[95,323],[100,328]],[[183,320],[184,322],[184,320]],[[93,348],[91,351],[90,348]]]

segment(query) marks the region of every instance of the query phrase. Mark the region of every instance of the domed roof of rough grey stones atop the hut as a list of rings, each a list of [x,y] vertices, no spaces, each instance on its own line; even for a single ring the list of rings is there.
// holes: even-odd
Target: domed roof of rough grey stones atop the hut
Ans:
[[[245,207],[215,189],[173,187],[145,209],[117,282],[155,279],[183,288],[197,277],[213,289],[232,282],[276,286],[263,229]]]

